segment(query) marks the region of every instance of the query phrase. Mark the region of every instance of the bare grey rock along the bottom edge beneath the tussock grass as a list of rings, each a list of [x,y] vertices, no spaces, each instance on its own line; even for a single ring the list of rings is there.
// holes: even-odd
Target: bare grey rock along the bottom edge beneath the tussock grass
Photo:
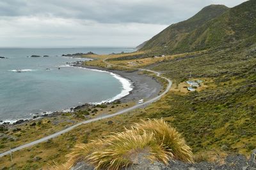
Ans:
[[[83,170],[83,169],[94,169],[93,166],[86,164],[85,162],[78,162],[76,166],[71,168],[72,170]],[[256,150],[253,150],[250,159],[247,160],[244,155],[230,155],[226,158],[224,164],[214,164],[209,162],[199,162],[196,164],[187,164],[176,160],[175,162],[170,162],[168,166],[160,162],[150,163],[150,160],[145,158],[145,155],[139,154],[137,158],[134,158],[134,164],[126,169],[148,169],[148,170],[231,170],[231,169],[241,169],[241,170],[255,170],[256,169]]]

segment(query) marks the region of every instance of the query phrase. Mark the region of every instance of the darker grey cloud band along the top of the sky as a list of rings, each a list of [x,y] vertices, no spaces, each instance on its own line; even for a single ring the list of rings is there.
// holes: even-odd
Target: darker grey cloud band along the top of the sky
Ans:
[[[170,24],[187,19],[209,4],[234,6],[244,0],[2,0],[1,16],[44,15],[101,23]]]

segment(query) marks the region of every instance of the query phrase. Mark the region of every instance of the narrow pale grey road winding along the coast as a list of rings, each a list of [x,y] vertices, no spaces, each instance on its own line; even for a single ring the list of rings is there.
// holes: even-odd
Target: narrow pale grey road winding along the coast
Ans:
[[[108,59],[108,58],[106,58]],[[106,61],[106,59],[103,60],[104,63],[108,64],[108,65],[112,65],[111,63],[108,63]],[[113,65],[113,66],[117,66],[117,65]],[[119,66],[119,65],[118,65]],[[122,66],[124,68],[131,68],[131,67],[128,67],[128,66]],[[118,111],[118,112],[115,112],[114,114],[108,114],[108,115],[105,115],[105,116],[101,116],[99,118],[93,118],[91,120],[86,120],[86,121],[82,121],[81,123],[77,123],[76,125],[72,125],[71,127],[68,127],[68,128],[65,128],[64,130],[61,130],[60,132],[56,132],[55,134],[52,134],[52,135],[48,135],[46,137],[43,137],[41,139],[38,139],[36,141],[33,141],[31,143],[27,143],[27,144],[23,144],[17,148],[13,148],[12,150],[9,150],[9,151],[5,151],[4,153],[0,153],[0,157],[3,157],[4,155],[8,155],[14,151],[18,151],[18,150],[22,150],[24,148],[28,148],[29,146],[33,146],[35,144],[38,144],[38,143],[42,143],[42,142],[45,142],[49,139],[52,139],[54,137],[58,137],[59,135],[61,134],[64,134],[76,127],[79,127],[80,125],[83,125],[83,124],[87,124],[87,123],[91,123],[93,121],[98,121],[98,120],[104,120],[106,118],[112,118],[114,116],[117,116],[119,114],[124,114],[125,112],[129,112],[129,111],[132,111],[134,109],[138,109],[138,108],[143,108],[143,107],[146,107],[148,104],[152,104],[153,102],[156,102],[157,100],[159,100],[161,97],[163,97],[163,95],[165,95],[171,88],[172,86],[172,81],[170,81],[170,79],[167,79],[166,77],[162,77],[161,76],[161,73],[159,72],[154,72],[152,70],[148,70],[148,69],[143,69],[143,68],[139,68],[138,70],[141,70],[141,71],[148,71],[148,72],[152,72],[152,73],[156,73],[156,75],[158,77],[161,77],[162,79],[165,79],[166,81],[168,81],[168,86],[167,88],[165,89],[165,91],[163,93],[161,93],[161,95],[158,95],[157,97],[154,97],[154,98],[151,98],[150,100],[147,100],[146,102],[144,102],[143,104],[137,104],[137,105],[134,105],[132,107],[129,107],[127,109],[124,109],[122,111]]]

